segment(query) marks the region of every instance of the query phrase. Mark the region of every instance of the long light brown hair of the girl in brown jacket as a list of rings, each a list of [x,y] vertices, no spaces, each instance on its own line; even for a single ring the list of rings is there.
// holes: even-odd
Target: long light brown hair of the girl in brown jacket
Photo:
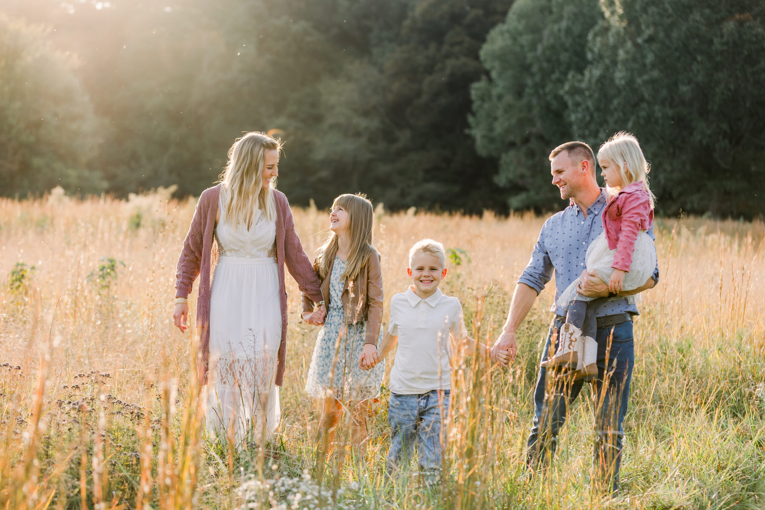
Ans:
[[[374,209],[366,196],[349,193],[337,197],[332,203],[332,209],[334,210],[336,206],[342,207],[348,213],[348,230],[350,231],[350,253],[340,280],[348,278],[348,281],[352,281],[366,264],[369,254],[375,249],[372,243]],[[337,254],[337,234],[330,230],[324,239],[324,244],[317,249],[316,253],[319,278],[324,281]]]

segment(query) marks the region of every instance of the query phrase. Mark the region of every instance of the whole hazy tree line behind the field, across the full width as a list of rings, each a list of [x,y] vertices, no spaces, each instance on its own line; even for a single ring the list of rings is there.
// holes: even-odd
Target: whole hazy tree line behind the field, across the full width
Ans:
[[[0,4],[3,195],[198,195],[273,129],[292,203],[541,212],[552,148],[627,130],[658,213],[765,213],[763,2],[167,2]]]

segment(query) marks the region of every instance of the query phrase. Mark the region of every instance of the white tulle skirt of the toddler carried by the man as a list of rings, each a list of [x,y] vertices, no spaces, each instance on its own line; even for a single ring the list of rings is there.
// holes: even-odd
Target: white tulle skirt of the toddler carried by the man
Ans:
[[[611,274],[614,274],[614,268],[611,265],[614,264],[614,254],[616,252],[615,249],[608,249],[606,236],[604,233],[601,233],[587,249],[584,262],[588,269],[597,271],[597,275],[601,280],[608,283],[611,279]],[[632,264],[630,265],[630,271],[624,275],[623,289],[625,291],[632,291],[637,287],[641,287],[648,281],[648,278],[651,278],[654,269],[656,269],[656,248],[651,236],[643,230],[638,234],[637,239],[635,239]],[[577,294],[576,287],[578,283],[579,279],[577,278],[563,291],[561,296],[558,297],[558,307],[568,307],[568,304],[574,299],[580,301],[595,299],[594,297]]]

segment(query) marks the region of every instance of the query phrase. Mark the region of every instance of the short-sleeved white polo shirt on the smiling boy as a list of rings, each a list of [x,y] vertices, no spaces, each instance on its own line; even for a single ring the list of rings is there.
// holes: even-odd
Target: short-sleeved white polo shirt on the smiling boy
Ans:
[[[441,289],[421,299],[410,285],[390,300],[388,332],[399,336],[390,391],[415,395],[451,388],[449,336],[467,336],[460,300],[444,295]]]

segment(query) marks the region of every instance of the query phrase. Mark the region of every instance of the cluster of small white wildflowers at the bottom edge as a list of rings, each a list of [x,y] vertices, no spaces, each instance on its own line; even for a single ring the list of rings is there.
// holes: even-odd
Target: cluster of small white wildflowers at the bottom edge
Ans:
[[[336,498],[343,495],[343,488],[337,489]],[[323,489],[311,479],[308,470],[298,478],[283,476],[278,479],[259,480],[250,477],[236,489],[236,510],[321,510],[340,508],[354,510],[350,502],[333,502],[332,491]]]

